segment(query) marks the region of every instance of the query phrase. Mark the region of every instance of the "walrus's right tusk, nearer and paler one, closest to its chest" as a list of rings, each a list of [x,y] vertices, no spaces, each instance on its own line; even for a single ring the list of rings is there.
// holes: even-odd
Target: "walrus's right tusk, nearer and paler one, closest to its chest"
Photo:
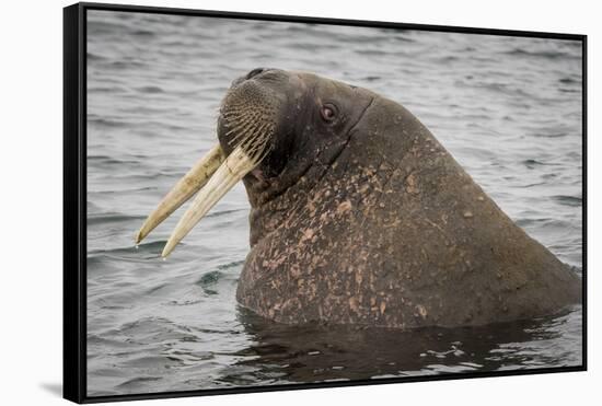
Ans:
[[[161,256],[165,258],[170,255],[175,245],[188,234],[219,199],[256,165],[257,160],[250,158],[241,147],[236,147],[195,197],[167,240]]]

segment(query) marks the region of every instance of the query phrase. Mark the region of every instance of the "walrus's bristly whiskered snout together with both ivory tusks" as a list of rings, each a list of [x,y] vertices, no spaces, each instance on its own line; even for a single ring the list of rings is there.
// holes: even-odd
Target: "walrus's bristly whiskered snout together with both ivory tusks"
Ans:
[[[161,255],[167,256],[207,211],[273,150],[282,98],[273,86],[253,80],[269,71],[257,68],[233,82],[220,107],[219,144],[163,198],[136,234],[136,243],[198,193],[165,244]]]

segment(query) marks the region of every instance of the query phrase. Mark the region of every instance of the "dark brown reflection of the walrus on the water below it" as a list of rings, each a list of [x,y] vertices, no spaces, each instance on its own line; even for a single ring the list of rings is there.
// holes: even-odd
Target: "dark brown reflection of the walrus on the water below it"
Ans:
[[[577,366],[580,356],[558,351],[564,335],[580,345],[580,306],[531,321],[478,327],[427,327],[410,332],[352,326],[287,326],[239,309],[250,335],[239,366],[279,382],[366,380],[542,366]],[[244,384],[250,370],[222,378]]]

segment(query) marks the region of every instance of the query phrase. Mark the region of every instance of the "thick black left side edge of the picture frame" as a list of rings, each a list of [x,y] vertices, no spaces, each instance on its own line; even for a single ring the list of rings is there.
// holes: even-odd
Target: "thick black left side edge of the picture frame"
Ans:
[[[82,7],[62,9],[62,397],[85,398],[85,288],[81,264]]]

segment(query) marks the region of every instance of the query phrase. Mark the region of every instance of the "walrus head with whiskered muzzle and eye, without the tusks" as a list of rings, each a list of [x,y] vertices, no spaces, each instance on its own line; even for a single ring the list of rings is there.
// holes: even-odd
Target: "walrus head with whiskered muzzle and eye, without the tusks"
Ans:
[[[331,148],[348,139],[371,100],[368,91],[315,74],[254,69],[225,95],[218,138],[228,154],[240,146],[257,160],[261,179],[275,181],[285,169],[323,160],[326,150],[336,154]]]

